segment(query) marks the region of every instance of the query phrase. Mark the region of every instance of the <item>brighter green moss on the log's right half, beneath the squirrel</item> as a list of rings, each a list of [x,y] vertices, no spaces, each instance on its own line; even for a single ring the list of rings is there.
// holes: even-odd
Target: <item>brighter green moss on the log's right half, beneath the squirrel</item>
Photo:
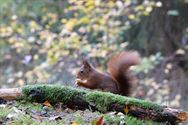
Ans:
[[[136,98],[130,98],[120,95],[115,95],[107,92],[89,92],[86,94],[86,100],[91,104],[95,104],[95,106],[101,111],[106,111],[107,108],[111,104],[120,104],[120,105],[133,105],[146,109],[154,109],[156,111],[162,111],[162,106],[145,101],[139,100]]]

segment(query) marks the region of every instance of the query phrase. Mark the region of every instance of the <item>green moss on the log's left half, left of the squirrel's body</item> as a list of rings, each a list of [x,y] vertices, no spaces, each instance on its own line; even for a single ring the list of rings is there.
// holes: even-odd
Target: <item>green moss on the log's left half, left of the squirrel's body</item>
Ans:
[[[28,85],[22,88],[22,95],[19,99],[26,99],[29,101],[35,101],[35,98],[31,97],[31,92],[37,90],[42,93],[40,96],[43,101],[48,100],[51,103],[70,102],[75,96],[83,97],[84,91],[77,90],[71,87],[63,87],[58,85]],[[38,101],[38,100],[37,100]]]

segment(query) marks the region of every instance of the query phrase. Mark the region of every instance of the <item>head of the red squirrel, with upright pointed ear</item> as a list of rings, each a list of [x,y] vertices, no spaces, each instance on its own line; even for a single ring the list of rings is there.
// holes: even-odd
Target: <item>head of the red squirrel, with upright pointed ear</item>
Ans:
[[[92,72],[93,67],[89,64],[87,60],[83,60],[82,66],[77,72],[76,78],[84,80],[87,79]]]

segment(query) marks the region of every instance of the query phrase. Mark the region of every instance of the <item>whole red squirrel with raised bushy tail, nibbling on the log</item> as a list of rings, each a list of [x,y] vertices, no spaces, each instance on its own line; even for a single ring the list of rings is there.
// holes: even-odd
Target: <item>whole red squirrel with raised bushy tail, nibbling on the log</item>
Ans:
[[[97,71],[87,60],[76,75],[76,84],[89,89],[98,89],[123,96],[129,96],[135,77],[130,74],[129,67],[137,65],[140,56],[136,52],[124,51],[108,61],[109,73]]]

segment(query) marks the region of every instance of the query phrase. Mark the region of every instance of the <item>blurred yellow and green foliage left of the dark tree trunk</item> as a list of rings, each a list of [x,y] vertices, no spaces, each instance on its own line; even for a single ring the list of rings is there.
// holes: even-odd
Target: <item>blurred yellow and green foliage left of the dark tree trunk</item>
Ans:
[[[125,31],[159,6],[147,0],[0,3],[0,80],[17,86],[57,82],[62,73],[70,79],[81,57],[104,64],[112,52],[126,49]]]

